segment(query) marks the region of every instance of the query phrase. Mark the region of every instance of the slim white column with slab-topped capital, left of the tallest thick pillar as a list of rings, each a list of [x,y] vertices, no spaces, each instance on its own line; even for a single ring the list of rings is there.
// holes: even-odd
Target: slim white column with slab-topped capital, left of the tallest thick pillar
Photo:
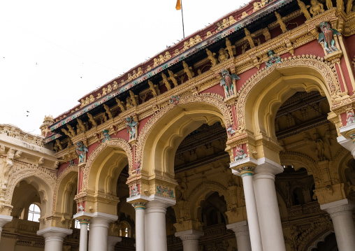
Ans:
[[[242,183],[245,196],[245,206],[247,207],[247,227],[249,233],[253,236],[251,247],[253,251],[263,251],[261,242],[261,231],[259,226],[258,208],[256,206],[256,199],[253,185],[254,167],[256,166],[256,159],[245,158],[231,163],[233,174],[242,176]],[[249,240],[250,243],[250,240]]]

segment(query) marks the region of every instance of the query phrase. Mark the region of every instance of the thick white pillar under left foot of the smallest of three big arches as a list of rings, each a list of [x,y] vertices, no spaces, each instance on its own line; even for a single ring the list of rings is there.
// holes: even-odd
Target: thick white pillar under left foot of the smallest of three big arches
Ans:
[[[117,215],[93,213],[89,222],[89,251],[108,250],[108,227],[118,219]]]

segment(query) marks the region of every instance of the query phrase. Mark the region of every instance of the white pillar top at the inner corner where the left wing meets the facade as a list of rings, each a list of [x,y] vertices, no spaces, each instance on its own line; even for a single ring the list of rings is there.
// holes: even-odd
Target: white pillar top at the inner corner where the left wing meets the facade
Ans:
[[[72,234],[73,229],[47,227],[37,231],[38,236],[45,238],[45,251],[62,251],[65,236]]]

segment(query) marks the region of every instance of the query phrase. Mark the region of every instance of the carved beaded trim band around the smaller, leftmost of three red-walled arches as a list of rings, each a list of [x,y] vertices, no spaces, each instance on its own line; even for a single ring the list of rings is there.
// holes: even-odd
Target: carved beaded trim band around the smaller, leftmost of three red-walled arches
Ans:
[[[128,141],[124,140],[123,138],[112,138],[110,139],[110,141],[105,141],[105,143],[101,143],[89,156],[89,159],[87,160],[87,163],[85,164],[85,168],[84,168],[81,192],[87,192],[88,189],[87,182],[89,179],[89,173],[95,159],[101,154],[101,152],[106,147],[115,147],[115,146],[122,148],[122,150],[124,150],[124,152],[126,153],[128,158],[128,163],[129,163],[129,171],[131,172],[131,170],[133,169],[133,152],[132,152],[131,145],[128,143]]]

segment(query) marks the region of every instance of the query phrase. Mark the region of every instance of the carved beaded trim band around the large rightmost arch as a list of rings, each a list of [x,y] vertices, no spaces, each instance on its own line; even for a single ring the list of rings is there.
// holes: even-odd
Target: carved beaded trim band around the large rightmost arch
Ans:
[[[335,66],[329,62],[325,62],[323,58],[314,55],[302,55],[282,59],[282,63],[273,64],[270,68],[261,69],[258,73],[254,74],[252,78],[246,81],[238,91],[238,102],[236,105],[237,122],[241,132],[245,131],[245,106],[249,95],[252,93],[253,88],[258,85],[264,78],[267,78],[270,73],[277,71],[277,69],[292,69],[296,76],[297,68],[313,69],[319,73],[324,87],[321,87],[324,94],[327,96],[328,102],[332,107],[333,103],[340,99],[341,88],[340,82],[336,73]]]

